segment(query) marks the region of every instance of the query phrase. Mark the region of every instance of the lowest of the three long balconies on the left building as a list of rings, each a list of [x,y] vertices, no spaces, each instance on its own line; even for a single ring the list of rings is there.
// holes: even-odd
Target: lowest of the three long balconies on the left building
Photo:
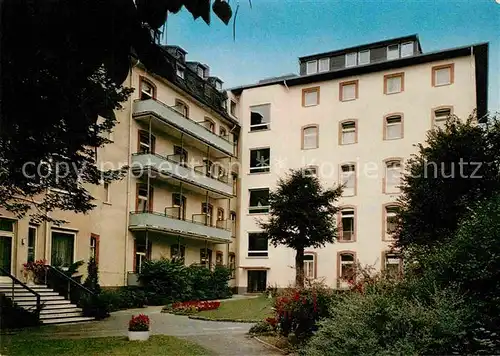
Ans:
[[[129,230],[156,231],[169,235],[181,235],[213,243],[230,243],[231,231],[217,226],[225,225],[218,221],[211,226],[206,214],[193,214],[189,219],[181,216],[179,207],[167,207],[163,213],[131,212]]]

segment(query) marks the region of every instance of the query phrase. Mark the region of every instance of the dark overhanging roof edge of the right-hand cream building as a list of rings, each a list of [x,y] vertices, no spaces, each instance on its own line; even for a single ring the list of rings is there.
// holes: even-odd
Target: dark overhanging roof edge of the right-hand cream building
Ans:
[[[406,37],[401,37],[406,38]],[[240,95],[243,90],[265,87],[270,85],[286,85],[288,87],[296,85],[306,85],[327,80],[351,77],[373,72],[386,71],[396,68],[408,67],[417,64],[429,63],[439,60],[446,60],[457,57],[464,57],[474,54],[476,68],[476,102],[478,117],[482,117],[487,111],[488,99],[488,42],[472,44],[463,47],[456,47],[435,52],[421,53],[411,57],[398,58],[394,60],[369,63],[362,66],[342,68],[329,72],[296,76],[290,79],[276,79],[274,81],[259,82],[256,84],[243,85],[228,89],[234,95]],[[304,57],[303,57],[304,58]],[[305,57],[307,58],[307,57]]]

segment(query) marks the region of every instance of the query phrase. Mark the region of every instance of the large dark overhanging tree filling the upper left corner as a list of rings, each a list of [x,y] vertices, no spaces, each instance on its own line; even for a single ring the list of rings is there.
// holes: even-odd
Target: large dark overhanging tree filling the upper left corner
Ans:
[[[120,179],[103,172],[97,148],[132,89],[133,58],[169,78],[157,45],[169,12],[184,6],[210,23],[210,0],[4,0],[0,2],[0,206],[33,220],[55,209],[94,207],[89,185]],[[214,0],[227,24],[232,10]],[[123,168],[123,169],[122,169]],[[52,189],[57,188],[57,189]]]

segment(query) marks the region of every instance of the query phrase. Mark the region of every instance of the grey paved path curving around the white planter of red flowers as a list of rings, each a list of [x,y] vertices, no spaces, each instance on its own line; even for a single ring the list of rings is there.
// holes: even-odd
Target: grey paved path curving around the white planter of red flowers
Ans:
[[[131,315],[143,313],[150,317],[151,334],[171,335],[196,342],[218,355],[257,356],[281,355],[258,341],[249,338],[246,333],[252,326],[249,323],[217,322],[193,320],[187,316],[161,312],[162,307],[129,309],[111,313],[105,320],[82,324],[66,324],[40,327],[30,330],[50,338],[86,338],[102,336],[126,336]]]

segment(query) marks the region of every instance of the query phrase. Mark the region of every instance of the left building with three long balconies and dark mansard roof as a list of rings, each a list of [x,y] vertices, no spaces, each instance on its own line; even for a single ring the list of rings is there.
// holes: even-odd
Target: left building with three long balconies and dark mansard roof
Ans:
[[[147,258],[235,263],[239,123],[208,66],[186,61],[176,46],[162,51],[173,73],[136,62],[124,83],[135,91],[116,113],[113,143],[97,152],[98,165],[129,166],[129,174],[88,187],[97,205],[88,215],[53,212],[67,221],[61,226],[32,224],[0,208],[6,271],[21,277],[27,261],[68,265],[95,256],[101,285],[120,286],[136,283]]]

